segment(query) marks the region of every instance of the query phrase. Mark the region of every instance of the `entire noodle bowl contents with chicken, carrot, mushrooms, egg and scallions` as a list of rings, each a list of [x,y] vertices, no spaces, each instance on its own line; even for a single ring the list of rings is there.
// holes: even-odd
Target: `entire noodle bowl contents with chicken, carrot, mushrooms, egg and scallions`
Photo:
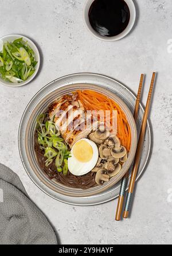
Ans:
[[[95,91],[61,96],[37,117],[34,150],[49,179],[89,189],[116,176],[127,161],[131,130],[122,109]]]

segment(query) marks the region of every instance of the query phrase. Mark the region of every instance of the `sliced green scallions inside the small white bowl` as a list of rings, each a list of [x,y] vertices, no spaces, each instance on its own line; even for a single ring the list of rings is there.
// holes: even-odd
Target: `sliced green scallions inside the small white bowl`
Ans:
[[[36,71],[35,53],[27,41],[4,42],[0,52],[0,76],[11,83],[25,82]]]

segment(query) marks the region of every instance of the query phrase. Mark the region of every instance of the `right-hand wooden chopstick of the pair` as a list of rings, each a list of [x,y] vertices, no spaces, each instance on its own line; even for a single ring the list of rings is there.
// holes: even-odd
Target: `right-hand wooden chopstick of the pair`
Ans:
[[[136,149],[134,165],[132,167],[132,172],[131,172],[130,185],[129,185],[129,188],[128,188],[126,204],[125,204],[124,212],[123,212],[123,218],[128,218],[128,214],[129,214],[130,207],[131,207],[132,194],[134,192],[134,185],[135,185],[136,175],[138,173],[140,157],[141,157],[141,154],[142,154],[144,135],[145,135],[146,125],[147,125],[147,118],[148,118],[148,113],[149,113],[149,110],[150,110],[150,103],[151,103],[151,96],[152,96],[153,87],[154,87],[155,74],[156,73],[154,72],[153,76],[152,76],[152,79],[151,79],[150,90],[148,92],[147,103],[146,103],[146,108],[145,108],[144,115],[143,115],[142,126],[141,126],[141,129],[140,129],[140,135],[139,135],[138,146],[137,146],[137,149]]]

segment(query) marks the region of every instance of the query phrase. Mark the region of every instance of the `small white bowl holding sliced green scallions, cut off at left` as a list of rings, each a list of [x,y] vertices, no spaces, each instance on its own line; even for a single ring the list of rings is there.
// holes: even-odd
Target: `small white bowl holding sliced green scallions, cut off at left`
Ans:
[[[10,86],[10,87],[19,87],[19,86],[24,86],[25,84],[28,84],[30,81],[32,81],[34,79],[34,77],[37,75],[37,72],[40,68],[40,53],[38,51],[37,46],[34,44],[34,42],[32,40],[30,40],[28,37],[22,36],[21,34],[8,34],[7,36],[3,36],[0,38],[0,51],[2,51],[2,46],[5,42],[9,41],[12,42],[17,38],[22,37],[24,39],[24,41],[28,41],[28,45],[30,46],[30,48],[33,49],[34,54],[35,54],[35,59],[38,62],[36,65],[36,70],[33,73],[32,76],[30,76],[26,81],[21,82],[21,83],[11,83],[11,82],[7,82],[5,80],[3,80],[1,78],[1,74],[0,74],[0,83],[3,84],[4,86]]]

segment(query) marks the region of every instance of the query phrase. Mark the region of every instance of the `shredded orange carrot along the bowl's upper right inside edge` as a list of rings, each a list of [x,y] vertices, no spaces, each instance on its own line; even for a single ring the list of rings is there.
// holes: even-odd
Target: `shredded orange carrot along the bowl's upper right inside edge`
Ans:
[[[131,129],[127,122],[126,115],[123,113],[119,105],[114,102],[114,100],[96,91],[80,90],[77,92],[85,110],[103,110],[104,113],[106,110],[110,110],[110,117],[105,120],[105,122],[110,123],[110,125],[112,125],[112,111],[117,111],[117,136],[119,137],[122,145],[129,152],[131,148]]]

